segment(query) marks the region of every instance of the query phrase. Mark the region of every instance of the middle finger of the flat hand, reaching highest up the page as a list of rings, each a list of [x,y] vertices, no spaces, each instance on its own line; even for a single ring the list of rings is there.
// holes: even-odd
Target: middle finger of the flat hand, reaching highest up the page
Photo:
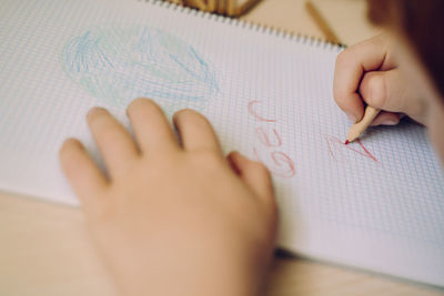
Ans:
[[[179,147],[163,111],[153,101],[137,99],[128,106],[127,113],[142,152]]]

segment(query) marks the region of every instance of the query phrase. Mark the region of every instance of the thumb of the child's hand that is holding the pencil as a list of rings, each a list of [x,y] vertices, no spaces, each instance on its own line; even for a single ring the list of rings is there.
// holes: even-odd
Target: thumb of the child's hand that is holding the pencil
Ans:
[[[423,103],[408,91],[398,69],[366,72],[360,84],[360,94],[371,106],[405,113],[423,122]]]

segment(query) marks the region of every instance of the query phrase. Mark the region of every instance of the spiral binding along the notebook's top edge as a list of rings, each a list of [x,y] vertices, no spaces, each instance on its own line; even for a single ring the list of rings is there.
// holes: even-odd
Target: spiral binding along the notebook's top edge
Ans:
[[[263,23],[259,23],[259,22],[254,22],[254,21],[239,20],[239,19],[234,19],[234,18],[220,16],[220,14],[214,14],[214,13],[210,13],[206,11],[201,11],[195,8],[179,6],[173,2],[167,2],[163,0],[138,0],[138,1],[139,2],[148,2],[153,6],[167,8],[167,9],[174,10],[174,11],[184,12],[186,14],[193,13],[196,17],[204,18],[204,19],[208,19],[211,21],[221,22],[221,23],[225,23],[231,27],[236,27],[236,28],[241,28],[241,29],[245,29],[245,30],[252,30],[252,31],[264,33],[264,34],[274,35],[278,38],[287,39],[290,41],[295,41],[297,43],[306,44],[310,47],[316,47],[316,48],[322,47],[323,49],[335,50],[335,51],[341,51],[342,49],[344,49],[346,47],[342,43],[334,43],[334,42],[331,42],[331,41],[327,41],[327,40],[324,40],[321,38],[296,33],[296,32],[287,30],[287,29],[276,28],[273,25],[263,24]]]

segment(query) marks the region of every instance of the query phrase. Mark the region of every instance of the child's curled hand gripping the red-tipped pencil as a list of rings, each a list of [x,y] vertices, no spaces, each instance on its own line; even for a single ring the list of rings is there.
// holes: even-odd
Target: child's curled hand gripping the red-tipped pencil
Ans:
[[[334,100],[351,121],[362,119],[366,103],[385,111],[372,125],[397,124],[400,113],[424,124],[424,104],[404,83],[392,48],[390,37],[381,34],[350,47],[337,57]]]

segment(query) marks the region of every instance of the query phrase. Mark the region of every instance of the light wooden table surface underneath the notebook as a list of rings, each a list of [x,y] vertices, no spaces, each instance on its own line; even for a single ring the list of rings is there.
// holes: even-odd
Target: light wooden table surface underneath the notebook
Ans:
[[[246,20],[322,38],[303,0],[264,0]],[[343,43],[371,37],[361,0],[315,0]],[[428,286],[278,256],[266,295],[444,295]],[[0,295],[115,295],[79,208],[0,192]]]

